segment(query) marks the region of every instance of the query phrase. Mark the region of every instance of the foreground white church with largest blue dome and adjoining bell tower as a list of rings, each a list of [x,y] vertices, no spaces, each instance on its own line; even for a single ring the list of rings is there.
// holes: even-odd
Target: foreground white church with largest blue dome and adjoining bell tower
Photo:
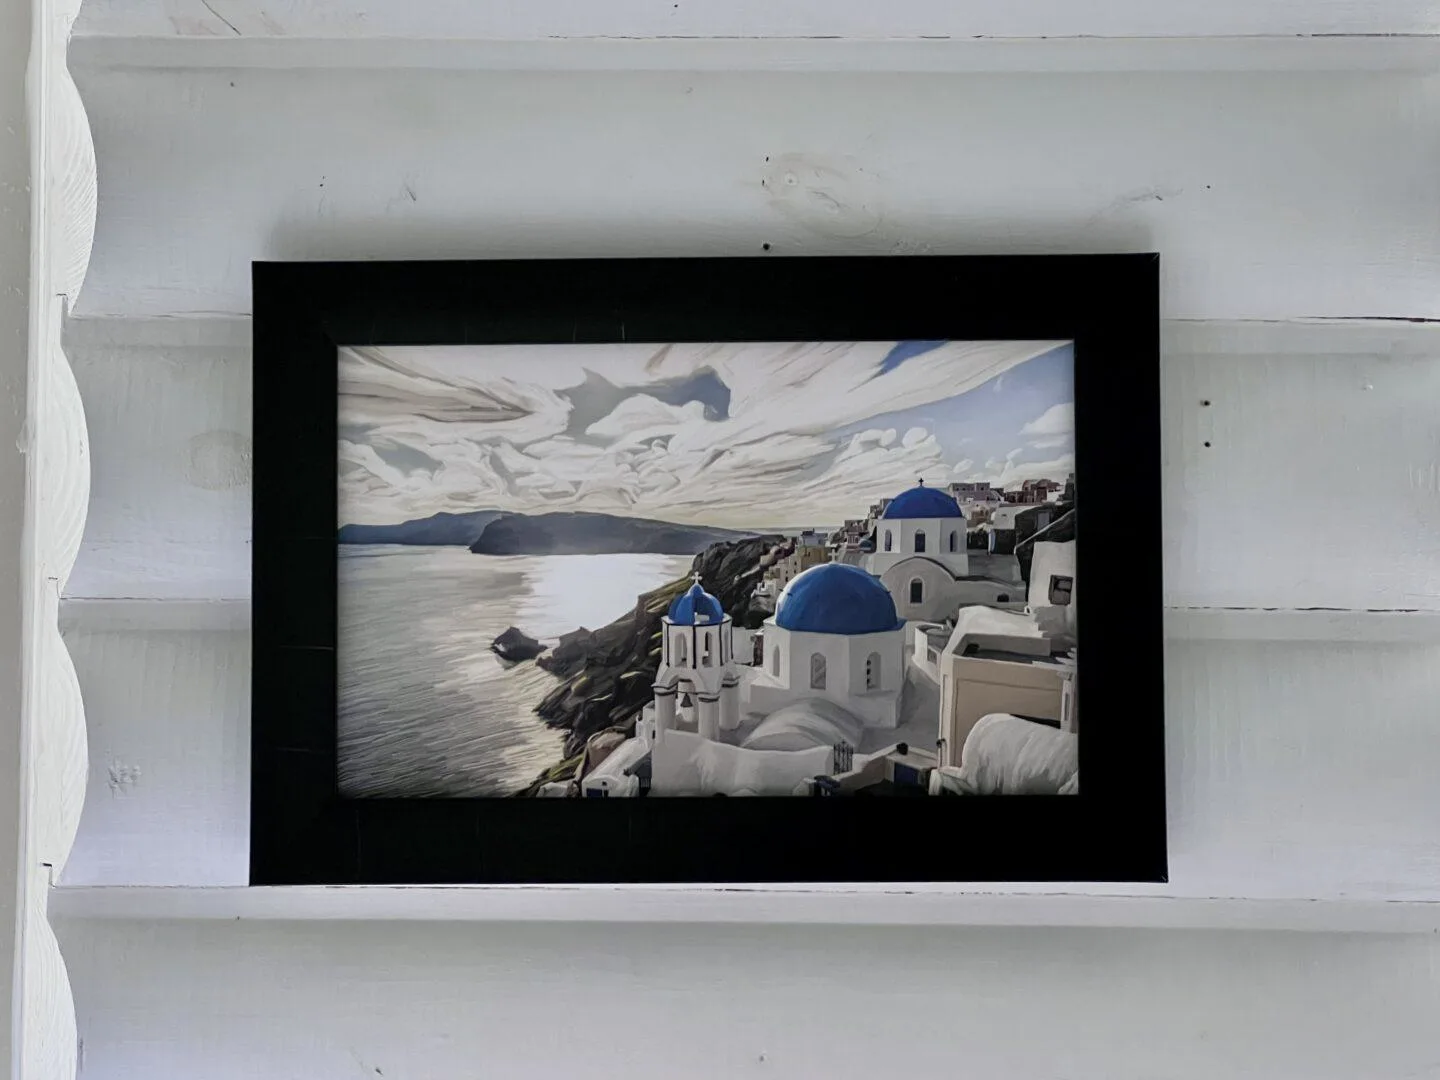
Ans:
[[[792,795],[837,772],[840,747],[893,744],[906,628],[876,577],[841,563],[805,570],[762,635],[763,662],[737,662],[733,621],[697,577],[661,619],[654,703],[583,793],[639,795],[644,776],[652,795]]]

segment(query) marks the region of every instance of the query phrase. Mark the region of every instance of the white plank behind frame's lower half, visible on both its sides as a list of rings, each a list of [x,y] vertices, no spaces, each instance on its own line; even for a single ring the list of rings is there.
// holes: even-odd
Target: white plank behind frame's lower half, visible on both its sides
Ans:
[[[245,884],[248,636],[66,641],[91,798],[62,884]],[[1143,894],[1440,900],[1440,645],[1172,641],[1165,683],[1171,883]]]

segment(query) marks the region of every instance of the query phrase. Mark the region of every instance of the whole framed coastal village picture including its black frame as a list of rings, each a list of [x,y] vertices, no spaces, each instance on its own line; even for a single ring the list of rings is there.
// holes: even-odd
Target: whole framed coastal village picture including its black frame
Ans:
[[[253,285],[253,884],[1165,880],[1156,256]]]

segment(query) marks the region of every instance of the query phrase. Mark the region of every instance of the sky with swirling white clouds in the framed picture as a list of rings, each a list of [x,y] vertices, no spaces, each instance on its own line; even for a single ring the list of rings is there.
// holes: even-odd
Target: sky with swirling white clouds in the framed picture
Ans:
[[[590,510],[838,524],[926,484],[1064,480],[1063,341],[340,350],[340,518]]]

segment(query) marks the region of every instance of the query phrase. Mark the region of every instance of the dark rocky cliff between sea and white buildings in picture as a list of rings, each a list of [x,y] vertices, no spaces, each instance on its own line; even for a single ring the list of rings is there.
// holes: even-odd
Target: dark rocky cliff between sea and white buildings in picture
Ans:
[[[711,544],[691,563],[691,570],[700,572],[701,585],[719,598],[736,626],[753,629],[765,621],[768,612],[750,605],[750,593],[760,580],[762,559],[780,543],[783,537],[779,536],[729,540]],[[562,648],[544,658],[541,667],[564,681],[536,711],[552,727],[570,733],[564,744],[567,759],[596,732],[634,724],[651,700],[651,685],[660,670],[660,621],[670,602],[690,583],[688,576],[678,577],[642,595],[629,613],[598,631],[566,635]],[[566,644],[572,648],[564,648]]]

